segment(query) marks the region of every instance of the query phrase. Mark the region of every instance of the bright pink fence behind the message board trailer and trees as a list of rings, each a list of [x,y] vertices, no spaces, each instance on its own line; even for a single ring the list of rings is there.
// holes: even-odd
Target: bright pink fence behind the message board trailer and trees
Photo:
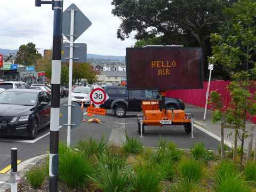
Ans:
[[[167,97],[173,97],[173,98],[179,98],[182,99],[184,102],[189,103],[191,105],[197,106],[197,107],[205,107],[205,100],[206,100],[206,90],[207,90],[207,83],[204,82],[203,89],[199,90],[172,90],[167,91],[166,96]],[[227,89],[227,86],[230,84],[229,81],[212,81],[210,86],[210,93],[211,91],[218,90],[218,93],[222,95],[222,98],[224,98],[225,103],[224,106],[228,107],[230,103],[230,94]],[[255,89],[252,91],[256,91]],[[210,109],[210,106],[208,106],[208,109]],[[256,116],[248,116],[248,119],[252,121],[253,123],[256,123]]]

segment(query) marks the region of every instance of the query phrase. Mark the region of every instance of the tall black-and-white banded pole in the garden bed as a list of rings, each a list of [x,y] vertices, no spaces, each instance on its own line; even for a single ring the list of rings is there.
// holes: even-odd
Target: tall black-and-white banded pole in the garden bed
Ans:
[[[50,124],[50,159],[49,159],[49,191],[58,191],[58,163],[59,163],[59,118],[60,118],[60,71],[61,71],[61,43],[62,43],[62,13],[63,0],[36,0],[36,6],[52,4],[53,46],[52,46],[52,103]]]

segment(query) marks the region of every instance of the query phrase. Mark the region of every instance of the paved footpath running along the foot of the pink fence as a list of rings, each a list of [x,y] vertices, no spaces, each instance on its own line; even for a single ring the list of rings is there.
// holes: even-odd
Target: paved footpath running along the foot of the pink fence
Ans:
[[[206,113],[206,119],[205,121],[203,120],[203,116],[204,116],[204,109],[203,108],[199,108],[199,107],[195,107],[192,105],[186,105],[186,112],[187,113],[192,113],[193,114],[193,118],[194,118],[194,127],[196,127],[197,129],[205,132],[206,134],[209,134],[211,137],[217,139],[220,141],[221,138],[221,124],[220,123],[213,123],[212,122],[212,111],[207,110]],[[250,133],[251,130],[251,122],[247,122],[246,123],[246,134]],[[242,131],[239,130],[239,135],[242,138]],[[254,134],[254,139],[253,139],[253,148],[255,146],[255,135]],[[195,135],[196,137],[196,135]],[[225,137],[225,144],[232,148],[234,145],[234,138],[235,138],[235,130],[234,129],[224,129],[224,137]],[[248,142],[249,142],[249,138],[245,139],[245,145],[244,145],[244,149],[247,150],[248,148]],[[241,140],[238,138],[238,146],[241,146]]]

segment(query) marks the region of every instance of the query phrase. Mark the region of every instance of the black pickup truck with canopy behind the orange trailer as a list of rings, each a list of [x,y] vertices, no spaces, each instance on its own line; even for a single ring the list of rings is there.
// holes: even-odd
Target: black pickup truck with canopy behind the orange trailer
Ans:
[[[127,111],[141,111],[142,100],[158,100],[162,96],[153,90],[127,90],[123,86],[106,86],[105,91],[109,99],[101,105],[105,109],[113,109],[115,117],[124,117]],[[165,97],[166,109],[185,109],[185,104],[180,99]]]

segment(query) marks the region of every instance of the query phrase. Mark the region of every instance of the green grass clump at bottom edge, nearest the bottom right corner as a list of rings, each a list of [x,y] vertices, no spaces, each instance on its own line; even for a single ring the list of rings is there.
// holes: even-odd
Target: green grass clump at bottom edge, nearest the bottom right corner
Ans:
[[[223,161],[215,173],[215,187],[216,192],[247,192],[249,188],[241,179],[236,165],[233,162]]]

